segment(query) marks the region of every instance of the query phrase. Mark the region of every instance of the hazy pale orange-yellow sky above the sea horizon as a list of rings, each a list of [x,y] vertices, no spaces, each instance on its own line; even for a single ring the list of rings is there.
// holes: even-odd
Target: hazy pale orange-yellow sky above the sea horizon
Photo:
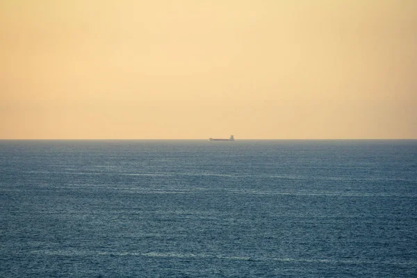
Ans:
[[[0,138],[417,138],[416,0],[0,0]]]

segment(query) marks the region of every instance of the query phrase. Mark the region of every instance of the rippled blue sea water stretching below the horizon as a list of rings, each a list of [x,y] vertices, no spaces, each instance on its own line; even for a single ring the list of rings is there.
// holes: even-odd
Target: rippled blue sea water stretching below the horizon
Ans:
[[[417,277],[417,140],[2,140],[0,277]]]

